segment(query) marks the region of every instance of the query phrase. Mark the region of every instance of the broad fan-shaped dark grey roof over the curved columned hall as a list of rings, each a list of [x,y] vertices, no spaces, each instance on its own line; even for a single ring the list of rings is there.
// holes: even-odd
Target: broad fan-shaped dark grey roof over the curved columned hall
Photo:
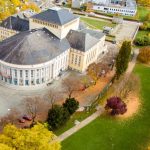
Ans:
[[[40,64],[69,48],[66,38],[60,40],[46,28],[33,29],[0,42],[0,60],[19,65]]]

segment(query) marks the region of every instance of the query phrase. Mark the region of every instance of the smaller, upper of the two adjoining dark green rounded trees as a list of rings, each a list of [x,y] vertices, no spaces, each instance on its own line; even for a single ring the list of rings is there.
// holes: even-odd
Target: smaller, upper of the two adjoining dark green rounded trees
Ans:
[[[63,107],[72,115],[79,108],[79,102],[75,98],[67,98]]]

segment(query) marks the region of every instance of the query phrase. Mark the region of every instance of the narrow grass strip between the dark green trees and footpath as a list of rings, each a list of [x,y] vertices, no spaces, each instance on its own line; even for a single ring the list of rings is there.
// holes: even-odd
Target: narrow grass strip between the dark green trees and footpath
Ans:
[[[93,114],[94,112],[95,112],[95,110],[92,110],[90,112],[87,112],[87,111],[76,112],[75,114],[73,114],[71,116],[71,118],[68,120],[68,122],[64,126],[55,130],[54,133],[56,135],[62,134],[63,132],[69,130],[70,128],[72,128],[74,126],[75,120],[82,121],[82,120],[86,119],[88,116],[90,116],[91,114]]]

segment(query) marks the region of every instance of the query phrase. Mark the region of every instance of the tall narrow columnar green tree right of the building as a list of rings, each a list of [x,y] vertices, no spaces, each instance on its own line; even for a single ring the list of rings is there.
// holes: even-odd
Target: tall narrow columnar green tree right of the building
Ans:
[[[131,54],[131,42],[124,41],[119,50],[119,54],[116,58],[116,78],[117,79],[119,79],[119,77],[128,68],[130,54]]]

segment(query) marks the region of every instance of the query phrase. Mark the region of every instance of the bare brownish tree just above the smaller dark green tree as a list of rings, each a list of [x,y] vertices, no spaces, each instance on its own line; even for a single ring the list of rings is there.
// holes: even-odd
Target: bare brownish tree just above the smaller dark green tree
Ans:
[[[81,86],[81,81],[77,77],[68,77],[63,80],[64,90],[68,95],[68,98],[71,98],[75,91],[78,91]]]

